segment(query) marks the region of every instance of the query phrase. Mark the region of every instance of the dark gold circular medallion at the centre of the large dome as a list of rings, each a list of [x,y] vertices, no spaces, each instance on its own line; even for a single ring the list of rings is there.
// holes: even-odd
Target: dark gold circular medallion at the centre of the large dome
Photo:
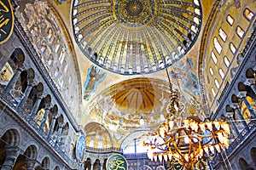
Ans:
[[[119,0],[115,4],[115,15],[125,26],[143,26],[154,15],[153,0]]]

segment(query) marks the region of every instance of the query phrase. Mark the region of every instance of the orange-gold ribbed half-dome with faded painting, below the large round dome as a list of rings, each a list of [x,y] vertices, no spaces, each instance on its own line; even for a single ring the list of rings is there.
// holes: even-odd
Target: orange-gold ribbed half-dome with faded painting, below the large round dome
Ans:
[[[100,122],[112,132],[158,127],[167,116],[169,92],[169,83],[160,79],[140,77],[119,82],[90,103],[90,121]],[[192,96],[183,90],[180,97],[181,116],[202,116],[197,112],[201,106]]]

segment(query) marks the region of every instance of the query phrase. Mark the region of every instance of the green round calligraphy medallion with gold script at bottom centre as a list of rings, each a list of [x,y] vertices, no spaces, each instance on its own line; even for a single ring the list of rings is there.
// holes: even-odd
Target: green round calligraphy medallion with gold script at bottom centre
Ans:
[[[113,154],[108,157],[106,167],[107,170],[127,170],[128,163],[124,156],[120,154]]]

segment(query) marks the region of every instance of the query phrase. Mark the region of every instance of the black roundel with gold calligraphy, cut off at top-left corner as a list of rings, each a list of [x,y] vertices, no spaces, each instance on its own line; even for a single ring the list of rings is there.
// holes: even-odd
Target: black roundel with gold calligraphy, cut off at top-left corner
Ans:
[[[8,0],[0,1],[0,44],[7,42],[12,35],[15,15]]]

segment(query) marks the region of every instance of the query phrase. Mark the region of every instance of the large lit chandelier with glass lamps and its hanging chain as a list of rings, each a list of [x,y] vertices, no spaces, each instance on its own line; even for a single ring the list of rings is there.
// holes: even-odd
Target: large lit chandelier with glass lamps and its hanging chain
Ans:
[[[152,161],[176,159],[186,169],[193,169],[203,157],[229,147],[230,125],[224,121],[201,122],[195,118],[179,116],[179,94],[170,84],[170,99],[166,105],[168,116],[155,133],[150,133],[143,145],[148,148]]]

